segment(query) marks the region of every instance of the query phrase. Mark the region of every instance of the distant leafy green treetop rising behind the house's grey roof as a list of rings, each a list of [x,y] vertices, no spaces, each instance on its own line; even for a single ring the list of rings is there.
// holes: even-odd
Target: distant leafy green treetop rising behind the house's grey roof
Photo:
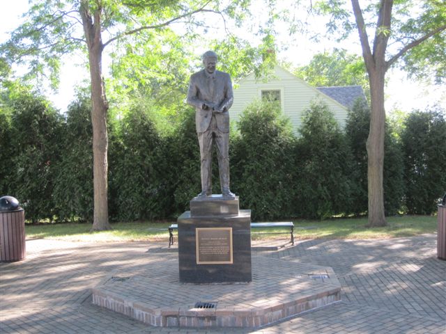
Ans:
[[[364,91],[369,90],[364,59],[348,54],[345,49],[316,54],[308,65],[298,68],[294,74],[316,87],[360,85]]]

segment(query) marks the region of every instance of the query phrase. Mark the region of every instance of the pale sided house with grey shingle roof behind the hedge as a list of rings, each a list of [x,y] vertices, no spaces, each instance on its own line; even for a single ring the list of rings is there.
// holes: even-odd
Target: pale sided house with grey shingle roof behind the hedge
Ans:
[[[270,95],[280,102],[284,115],[290,118],[295,131],[300,127],[302,115],[312,100],[320,99],[325,102],[341,127],[346,123],[347,111],[353,106],[353,102],[358,97],[365,100],[361,86],[316,88],[280,66],[275,66],[271,79],[267,82],[256,79],[254,73],[249,74],[238,82],[238,88],[233,94],[234,102],[229,111],[231,120],[237,122],[248,104]]]

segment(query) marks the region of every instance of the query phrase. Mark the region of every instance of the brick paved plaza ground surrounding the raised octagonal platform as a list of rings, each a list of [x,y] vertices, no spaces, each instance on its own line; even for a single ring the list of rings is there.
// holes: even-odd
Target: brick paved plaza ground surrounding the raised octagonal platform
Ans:
[[[253,255],[332,267],[341,303],[256,329],[151,327],[92,305],[91,289],[141,264],[156,276],[163,263],[178,263],[176,249],[38,239],[26,241],[25,261],[0,264],[0,333],[446,333],[446,262],[436,258],[435,234],[298,241]]]

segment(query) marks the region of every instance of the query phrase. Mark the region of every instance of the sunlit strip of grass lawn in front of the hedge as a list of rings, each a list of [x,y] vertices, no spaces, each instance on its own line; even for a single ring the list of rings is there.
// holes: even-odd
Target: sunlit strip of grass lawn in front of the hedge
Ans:
[[[167,227],[174,223],[112,223],[113,230],[89,232],[91,224],[57,223],[26,224],[26,239],[58,239],[65,241],[167,241]],[[383,239],[412,237],[437,230],[436,216],[387,217],[384,228],[366,228],[367,218],[333,218],[326,221],[295,220],[295,239]],[[284,230],[255,229],[253,232],[284,232]],[[286,234],[252,234],[252,239],[287,239]]]

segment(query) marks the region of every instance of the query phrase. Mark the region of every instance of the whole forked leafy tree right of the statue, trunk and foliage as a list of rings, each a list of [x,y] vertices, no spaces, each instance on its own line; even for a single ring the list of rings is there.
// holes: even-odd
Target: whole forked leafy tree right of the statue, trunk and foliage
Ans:
[[[385,74],[403,58],[410,65],[408,70],[420,70],[424,74],[432,70],[437,79],[443,81],[446,6],[442,0],[380,0],[368,3],[363,9],[359,0],[351,0],[355,24],[351,24],[352,11],[346,7],[346,1],[320,1],[317,7],[321,13],[332,17],[329,33],[341,27],[341,37],[354,29],[359,34],[371,94],[367,138],[369,225],[383,226],[386,225],[383,189]],[[371,29],[374,29],[373,40],[369,38]],[[437,44],[438,48],[433,47]],[[392,47],[388,47],[390,45]],[[443,65],[437,65],[436,61]]]

